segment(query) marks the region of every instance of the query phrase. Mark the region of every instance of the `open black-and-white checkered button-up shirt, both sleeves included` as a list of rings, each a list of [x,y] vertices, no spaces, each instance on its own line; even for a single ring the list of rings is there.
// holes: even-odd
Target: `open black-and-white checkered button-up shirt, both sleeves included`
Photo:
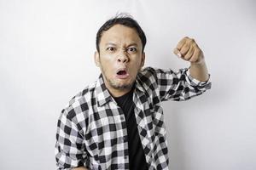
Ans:
[[[190,99],[211,88],[211,82],[195,80],[189,69],[174,72],[147,67],[137,74],[135,85],[134,113],[148,169],[168,169],[160,102]],[[129,169],[125,115],[108,93],[102,76],[61,111],[55,158],[58,169]]]

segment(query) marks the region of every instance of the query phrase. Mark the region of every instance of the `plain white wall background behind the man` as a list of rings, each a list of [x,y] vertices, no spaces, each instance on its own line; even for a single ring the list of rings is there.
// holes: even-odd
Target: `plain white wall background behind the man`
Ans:
[[[96,31],[117,12],[143,27],[146,65],[177,70],[194,37],[212,89],[163,103],[172,170],[256,169],[256,2],[0,0],[0,169],[55,169],[61,109],[100,71]]]

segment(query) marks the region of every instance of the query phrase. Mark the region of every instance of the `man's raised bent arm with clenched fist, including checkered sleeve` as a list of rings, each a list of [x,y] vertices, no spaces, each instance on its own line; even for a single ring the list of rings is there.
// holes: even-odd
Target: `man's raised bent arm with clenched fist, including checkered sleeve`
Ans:
[[[189,61],[190,67],[189,69],[180,69],[177,72],[171,69],[151,69],[150,72],[154,72],[154,77],[160,89],[161,101],[191,99],[211,88],[204,55],[194,39],[184,37],[178,42],[174,54]]]

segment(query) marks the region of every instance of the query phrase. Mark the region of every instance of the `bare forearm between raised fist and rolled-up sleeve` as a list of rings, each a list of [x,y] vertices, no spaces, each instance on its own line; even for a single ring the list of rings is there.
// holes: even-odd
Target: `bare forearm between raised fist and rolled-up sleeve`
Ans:
[[[192,77],[201,82],[207,82],[209,79],[207,64],[204,60],[201,63],[191,63],[189,72]]]

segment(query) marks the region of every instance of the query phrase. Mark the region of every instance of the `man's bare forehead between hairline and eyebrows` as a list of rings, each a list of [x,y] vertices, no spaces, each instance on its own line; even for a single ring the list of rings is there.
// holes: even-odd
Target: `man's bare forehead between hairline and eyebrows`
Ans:
[[[102,44],[108,42],[115,43],[129,43],[137,42],[138,45],[141,45],[140,37],[137,34],[137,31],[128,26],[115,25],[112,26],[108,31],[102,32]]]

